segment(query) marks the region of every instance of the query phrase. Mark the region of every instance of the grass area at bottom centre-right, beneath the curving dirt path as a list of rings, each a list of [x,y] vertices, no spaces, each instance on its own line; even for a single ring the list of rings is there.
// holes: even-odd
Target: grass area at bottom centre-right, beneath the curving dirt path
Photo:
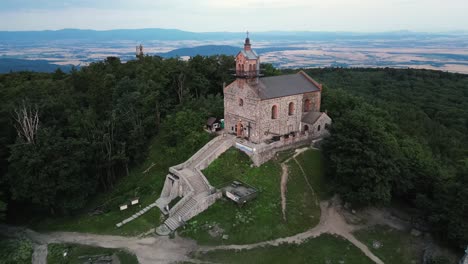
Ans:
[[[373,263],[348,241],[333,235],[321,235],[300,245],[281,244],[250,250],[217,250],[196,253],[194,258],[215,263]]]

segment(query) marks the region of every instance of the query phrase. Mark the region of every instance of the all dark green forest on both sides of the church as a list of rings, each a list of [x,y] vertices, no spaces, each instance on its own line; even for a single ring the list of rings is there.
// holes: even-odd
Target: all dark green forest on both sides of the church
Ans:
[[[70,73],[0,75],[0,210],[69,215],[166,144],[196,148],[222,116],[231,56],[141,57]],[[266,76],[289,73],[263,65]],[[306,69],[333,118],[327,177],[353,206],[409,204],[413,221],[468,244],[468,76],[413,69]],[[189,134],[190,136],[184,136]],[[165,148],[161,145],[160,148]]]

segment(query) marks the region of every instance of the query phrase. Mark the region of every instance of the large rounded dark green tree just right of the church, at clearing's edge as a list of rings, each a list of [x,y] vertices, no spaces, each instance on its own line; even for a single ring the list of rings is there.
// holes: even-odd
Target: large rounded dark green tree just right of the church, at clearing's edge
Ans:
[[[323,149],[338,192],[356,205],[386,204],[398,175],[397,143],[385,121],[362,105],[334,120]]]

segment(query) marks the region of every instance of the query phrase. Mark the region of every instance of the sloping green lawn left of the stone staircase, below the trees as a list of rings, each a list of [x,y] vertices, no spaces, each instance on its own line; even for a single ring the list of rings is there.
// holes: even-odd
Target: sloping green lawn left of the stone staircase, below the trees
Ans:
[[[206,134],[206,139],[200,147],[210,139]],[[161,213],[157,208],[121,228],[116,228],[115,224],[153,203],[159,197],[169,167],[184,162],[192,154],[185,151],[183,146],[168,147],[161,132],[151,142],[146,161],[133,168],[129,176],[122,177],[112,190],[98,194],[82,213],[70,217],[42,219],[32,226],[39,231],[76,231],[125,236],[138,235],[155,228],[161,223]],[[147,173],[143,173],[153,164]],[[140,197],[141,206],[132,206],[125,211],[119,210],[120,204],[134,197]],[[105,213],[94,216],[89,214],[93,208],[101,205],[104,205]]]

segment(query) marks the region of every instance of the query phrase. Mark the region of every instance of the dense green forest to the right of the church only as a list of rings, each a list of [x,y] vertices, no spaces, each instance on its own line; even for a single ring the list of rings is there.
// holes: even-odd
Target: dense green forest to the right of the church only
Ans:
[[[327,176],[356,206],[410,205],[412,222],[468,244],[468,76],[414,69],[310,69],[334,125]],[[407,206],[406,206],[407,207]]]

